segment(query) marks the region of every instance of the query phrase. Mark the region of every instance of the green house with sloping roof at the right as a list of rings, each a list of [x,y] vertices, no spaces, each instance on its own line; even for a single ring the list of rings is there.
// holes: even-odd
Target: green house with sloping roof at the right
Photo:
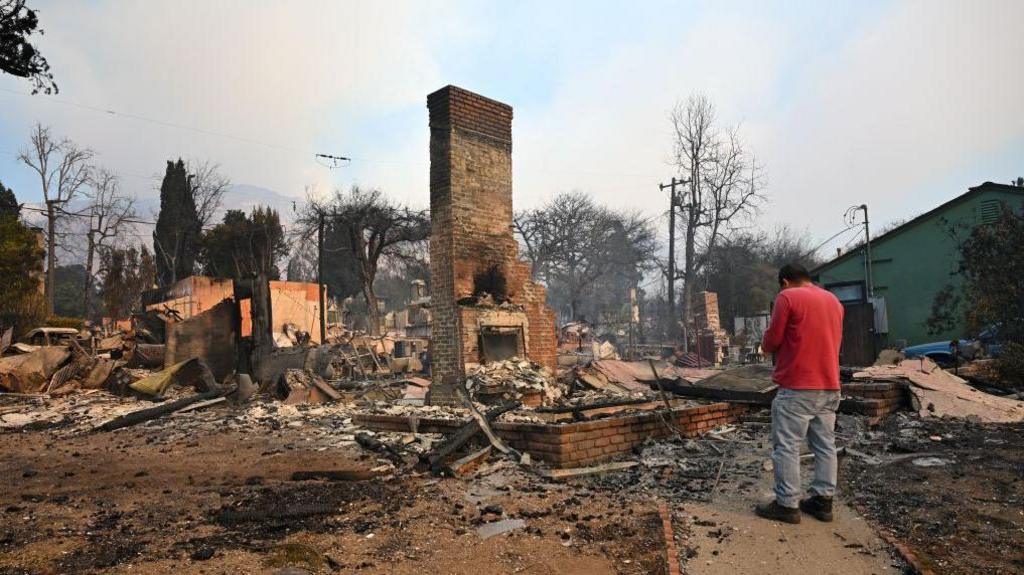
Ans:
[[[966,235],[971,228],[994,221],[1004,206],[1015,211],[1024,208],[1024,186],[985,182],[871,238],[874,296],[884,299],[885,308],[884,316],[879,317],[877,312],[874,320],[879,327],[877,347],[969,336],[963,324],[942,334],[929,334],[926,325],[936,293],[959,282],[955,273],[959,256],[950,228]],[[816,283],[836,294],[848,310],[866,303],[863,246],[818,266],[811,275]]]

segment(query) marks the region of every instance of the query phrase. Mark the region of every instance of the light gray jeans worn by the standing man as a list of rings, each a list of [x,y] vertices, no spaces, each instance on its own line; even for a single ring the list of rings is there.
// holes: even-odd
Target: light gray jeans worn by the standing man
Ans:
[[[778,390],[771,402],[772,462],[775,466],[775,500],[785,507],[800,502],[800,447],[814,453],[813,495],[836,493],[839,461],[836,457],[838,391]]]

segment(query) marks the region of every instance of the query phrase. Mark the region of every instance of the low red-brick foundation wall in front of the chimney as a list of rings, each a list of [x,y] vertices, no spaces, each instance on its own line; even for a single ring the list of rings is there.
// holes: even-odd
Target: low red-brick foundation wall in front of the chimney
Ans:
[[[745,405],[713,403],[673,409],[672,416],[684,437],[697,437],[745,412]],[[376,431],[419,433],[454,433],[464,425],[456,419],[374,414],[355,415],[352,421]],[[565,425],[497,423],[493,428],[509,445],[536,459],[556,468],[577,468],[628,453],[648,437],[674,434],[667,423],[668,415],[657,411]]]

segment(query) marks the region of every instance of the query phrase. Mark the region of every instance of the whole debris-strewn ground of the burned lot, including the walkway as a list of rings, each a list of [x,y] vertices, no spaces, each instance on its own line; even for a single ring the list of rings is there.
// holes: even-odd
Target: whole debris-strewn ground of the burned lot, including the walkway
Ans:
[[[751,512],[772,496],[767,366],[513,357],[427,405],[429,380],[366,349],[270,354],[260,386],[137,350],[8,358],[0,575],[1024,565],[1024,402],[929,361],[844,371],[840,519],[780,526]]]

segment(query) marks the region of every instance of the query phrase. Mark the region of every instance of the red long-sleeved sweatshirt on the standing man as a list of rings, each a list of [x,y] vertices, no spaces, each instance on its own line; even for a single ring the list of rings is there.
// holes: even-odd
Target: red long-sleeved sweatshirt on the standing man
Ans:
[[[775,299],[765,351],[774,352],[772,380],[782,388],[838,390],[843,304],[831,293],[806,284]]]

